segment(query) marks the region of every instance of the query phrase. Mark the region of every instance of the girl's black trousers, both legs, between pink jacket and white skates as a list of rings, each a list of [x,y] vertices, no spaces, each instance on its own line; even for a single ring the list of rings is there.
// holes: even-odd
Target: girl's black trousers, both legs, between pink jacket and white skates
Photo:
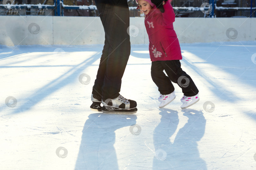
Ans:
[[[174,91],[172,82],[182,88],[185,96],[195,96],[199,92],[192,78],[181,69],[180,60],[153,61],[151,77],[161,94],[170,94]]]

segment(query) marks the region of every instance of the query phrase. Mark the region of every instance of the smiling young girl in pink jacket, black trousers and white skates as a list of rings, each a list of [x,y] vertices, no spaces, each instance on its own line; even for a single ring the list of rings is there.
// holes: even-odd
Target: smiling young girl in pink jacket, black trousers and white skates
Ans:
[[[172,5],[168,1],[163,2],[164,10],[160,11],[160,8],[157,9],[150,0],[136,0],[136,2],[145,15],[145,26],[149,35],[149,55],[152,61],[151,77],[160,92],[159,107],[162,108],[175,99],[172,82],[177,83],[184,93],[180,99],[183,103],[182,109],[195,104],[199,100],[199,91],[192,78],[180,66],[182,56],[180,43],[173,27],[175,14]]]

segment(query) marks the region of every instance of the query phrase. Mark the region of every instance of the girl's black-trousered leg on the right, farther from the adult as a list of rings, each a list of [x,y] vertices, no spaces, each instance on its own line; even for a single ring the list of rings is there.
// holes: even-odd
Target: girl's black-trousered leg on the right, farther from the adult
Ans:
[[[167,60],[161,63],[170,80],[182,88],[185,96],[195,96],[199,92],[192,78],[181,69],[180,60]]]

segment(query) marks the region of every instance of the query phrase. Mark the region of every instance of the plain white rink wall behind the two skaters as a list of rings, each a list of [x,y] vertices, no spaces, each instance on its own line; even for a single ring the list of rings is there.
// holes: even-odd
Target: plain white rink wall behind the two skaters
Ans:
[[[0,16],[0,44],[104,44],[99,17]],[[118,26],[118,25],[113,25]],[[131,44],[149,43],[144,18],[130,18]],[[256,18],[176,18],[180,43],[251,41],[256,39]]]

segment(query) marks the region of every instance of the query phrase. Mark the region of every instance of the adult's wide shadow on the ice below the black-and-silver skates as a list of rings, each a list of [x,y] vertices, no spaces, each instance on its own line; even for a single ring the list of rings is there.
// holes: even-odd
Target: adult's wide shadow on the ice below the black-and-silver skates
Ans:
[[[119,169],[114,148],[115,131],[136,124],[137,116],[93,113],[88,118],[82,131],[75,169]]]

